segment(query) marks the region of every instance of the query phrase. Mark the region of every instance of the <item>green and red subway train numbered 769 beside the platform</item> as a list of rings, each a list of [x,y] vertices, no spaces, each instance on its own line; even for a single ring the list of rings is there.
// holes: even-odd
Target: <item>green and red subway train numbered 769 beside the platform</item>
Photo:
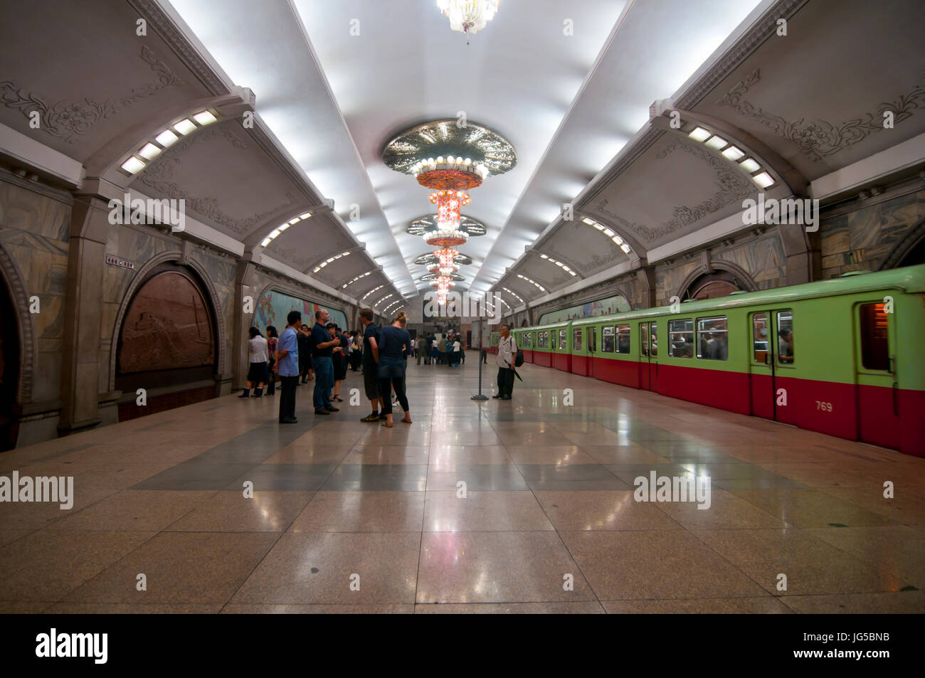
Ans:
[[[527,363],[925,456],[925,265],[678,306],[512,334]]]

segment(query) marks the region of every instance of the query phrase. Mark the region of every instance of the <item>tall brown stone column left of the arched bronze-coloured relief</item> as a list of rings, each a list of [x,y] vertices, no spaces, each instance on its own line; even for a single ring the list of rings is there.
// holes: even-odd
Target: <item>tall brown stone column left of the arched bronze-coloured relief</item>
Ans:
[[[68,290],[65,297],[61,361],[61,418],[68,433],[100,423],[100,325],[108,201],[99,195],[78,195],[71,211],[68,247]]]

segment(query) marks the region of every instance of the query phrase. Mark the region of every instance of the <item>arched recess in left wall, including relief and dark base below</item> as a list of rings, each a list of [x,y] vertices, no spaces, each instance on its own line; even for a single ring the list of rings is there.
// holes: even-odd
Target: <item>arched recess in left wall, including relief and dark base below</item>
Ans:
[[[216,313],[198,275],[157,265],[129,302],[119,328],[116,388],[130,395],[119,421],[214,398]],[[147,406],[135,404],[144,388]]]

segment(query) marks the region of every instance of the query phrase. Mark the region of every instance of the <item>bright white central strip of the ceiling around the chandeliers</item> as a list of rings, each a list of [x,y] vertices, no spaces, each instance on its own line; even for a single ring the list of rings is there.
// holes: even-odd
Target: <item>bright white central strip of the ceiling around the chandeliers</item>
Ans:
[[[413,177],[382,162],[398,132],[462,112],[516,149],[517,166],[471,191],[463,210],[487,235],[461,247],[474,264],[462,267],[458,289],[485,287],[633,136],[652,100],[757,4],[505,0],[467,43],[431,0],[293,0],[260,12],[231,0],[217,14],[210,3],[172,0],[406,295],[428,289],[427,269],[413,261],[430,248],[405,227],[431,206]],[[689,30],[704,14],[709,22]],[[576,141],[563,146],[569,135]]]

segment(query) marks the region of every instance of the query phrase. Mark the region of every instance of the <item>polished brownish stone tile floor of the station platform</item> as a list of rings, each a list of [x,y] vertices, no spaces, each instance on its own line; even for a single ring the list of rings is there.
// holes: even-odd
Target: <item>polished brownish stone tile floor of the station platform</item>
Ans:
[[[391,429],[349,373],[296,425],[229,396],[0,454],[75,494],[0,503],[0,611],[925,611],[925,460],[529,364],[472,401],[476,368],[412,364]],[[709,509],[635,501],[651,471]]]

